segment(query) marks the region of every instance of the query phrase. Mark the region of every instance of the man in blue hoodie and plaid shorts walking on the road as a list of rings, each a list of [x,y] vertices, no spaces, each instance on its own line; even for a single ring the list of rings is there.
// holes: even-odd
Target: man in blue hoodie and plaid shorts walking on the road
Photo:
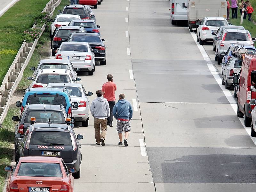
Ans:
[[[119,95],[119,100],[113,108],[113,116],[117,119],[116,130],[118,132],[120,142],[118,145],[123,145],[124,132],[124,146],[128,146],[128,136],[131,131],[130,121],[132,119],[132,105],[129,101],[124,99],[124,94]]]

